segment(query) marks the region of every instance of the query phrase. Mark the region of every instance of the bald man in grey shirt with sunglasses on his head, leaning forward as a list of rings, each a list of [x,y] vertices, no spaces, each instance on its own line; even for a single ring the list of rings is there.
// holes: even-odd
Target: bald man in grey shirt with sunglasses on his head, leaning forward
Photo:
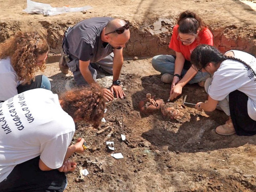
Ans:
[[[59,62],[62,73],[68,68],[73,72],[76,84],[88,85],[96,82],[100,69],[113,74],[113,84],[104,89],[107,101],[124,98],[119,75],[123,65],[123,48],[130,38],[130,23],[121,19],[95,17],[80,21],[68,29],[63,38],[63,52]]]

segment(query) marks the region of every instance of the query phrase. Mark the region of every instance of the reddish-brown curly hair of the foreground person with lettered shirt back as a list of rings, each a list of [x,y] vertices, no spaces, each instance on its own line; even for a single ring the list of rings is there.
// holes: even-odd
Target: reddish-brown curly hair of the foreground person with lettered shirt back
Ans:
[[[60,95],[60,104],[73,118],[81,118],[86,123],[98,127],[104,115],[106,103],[102,88],[97,84],[76,88]]]

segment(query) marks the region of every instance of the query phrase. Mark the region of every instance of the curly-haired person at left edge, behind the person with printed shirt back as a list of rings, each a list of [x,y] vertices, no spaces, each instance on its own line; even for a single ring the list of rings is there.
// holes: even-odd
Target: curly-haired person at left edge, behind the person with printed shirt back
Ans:
[[[46,76],[35,76],[44,71],[48,52],[47,41],[37,32],[18,32],[0,45],[0,102],[30,89],[51,90]]]

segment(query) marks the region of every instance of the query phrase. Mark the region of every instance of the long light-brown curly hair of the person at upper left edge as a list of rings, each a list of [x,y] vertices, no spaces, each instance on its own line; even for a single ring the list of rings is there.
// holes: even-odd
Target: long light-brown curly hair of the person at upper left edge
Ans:
[[[48,51],[47,41],[37,32],[18,32],[0,44],[0,59],[10,57],[19,80],[29,84],[37,71],[45,69],[45,61],[39,66],[36,58]]]

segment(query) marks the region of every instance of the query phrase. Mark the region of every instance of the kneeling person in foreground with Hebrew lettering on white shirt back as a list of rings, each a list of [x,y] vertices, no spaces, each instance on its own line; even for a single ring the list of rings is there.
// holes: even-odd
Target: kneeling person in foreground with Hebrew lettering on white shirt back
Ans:
[[[84,152],[84,139],[70,145],[75,122],[98,126],[104,114],[97,85],[59,98],[45,89],[20,93],[0,103],[0,191],[63,191],[68,157]]]

